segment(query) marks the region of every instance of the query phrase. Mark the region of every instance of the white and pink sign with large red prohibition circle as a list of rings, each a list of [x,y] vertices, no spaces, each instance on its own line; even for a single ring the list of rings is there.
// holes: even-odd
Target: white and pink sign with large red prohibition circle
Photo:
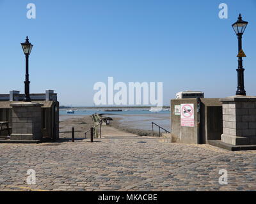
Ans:
[[[194,104],[182,104],[180,122],[182,127],[195,127]]]

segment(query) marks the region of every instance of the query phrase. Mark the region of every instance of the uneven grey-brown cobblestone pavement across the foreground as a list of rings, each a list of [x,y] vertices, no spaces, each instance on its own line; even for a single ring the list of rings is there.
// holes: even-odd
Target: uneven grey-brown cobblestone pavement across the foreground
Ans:
[[[0,144],[1,191],[255,191],[256,151],[229,152],[167,139]],[[36,171],[28,185],[27,170]],[[219,170],[228,171],[220,185]]]

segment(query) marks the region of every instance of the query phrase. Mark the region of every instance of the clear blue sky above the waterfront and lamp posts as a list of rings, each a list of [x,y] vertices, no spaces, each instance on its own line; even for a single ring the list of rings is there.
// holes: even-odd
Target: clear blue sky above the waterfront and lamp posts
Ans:
[[[36,19],[26,17],[36,5]],[[220,3],[228,19],[220,19]],[[231,24],[249,21],[243,36],[244,80],[256,95],[256,1],[0,0],[0,94],[24,92],[26,36],[31,92],[54,89],[61,105],[93,105],[96,82],[163,82],[164,105],[175,93],[207,98],[236,94],[237,38]]]

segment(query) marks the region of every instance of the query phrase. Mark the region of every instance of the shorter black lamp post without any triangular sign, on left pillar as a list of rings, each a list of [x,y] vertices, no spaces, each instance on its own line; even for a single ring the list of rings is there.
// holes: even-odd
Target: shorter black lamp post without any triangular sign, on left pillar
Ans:
[[[28,36],[26,38],[26,41],[24,43],[21,43],[22,49],[24,54],[26,55],[26,80],[24,82],[25,84],[25,98],[23,101],[30,102],[30,96],[29,96],[29,73],[28,73],[28,57],[30,55],[30,52],[33,48],[33,45],[29,43]]]

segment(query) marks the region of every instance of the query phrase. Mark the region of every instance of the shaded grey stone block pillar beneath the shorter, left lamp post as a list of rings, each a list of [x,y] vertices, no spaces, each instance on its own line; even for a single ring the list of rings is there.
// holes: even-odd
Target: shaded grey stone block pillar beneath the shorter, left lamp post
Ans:
[[[12,102],[11,140],[42,139],[42,104],[31,102]]]

